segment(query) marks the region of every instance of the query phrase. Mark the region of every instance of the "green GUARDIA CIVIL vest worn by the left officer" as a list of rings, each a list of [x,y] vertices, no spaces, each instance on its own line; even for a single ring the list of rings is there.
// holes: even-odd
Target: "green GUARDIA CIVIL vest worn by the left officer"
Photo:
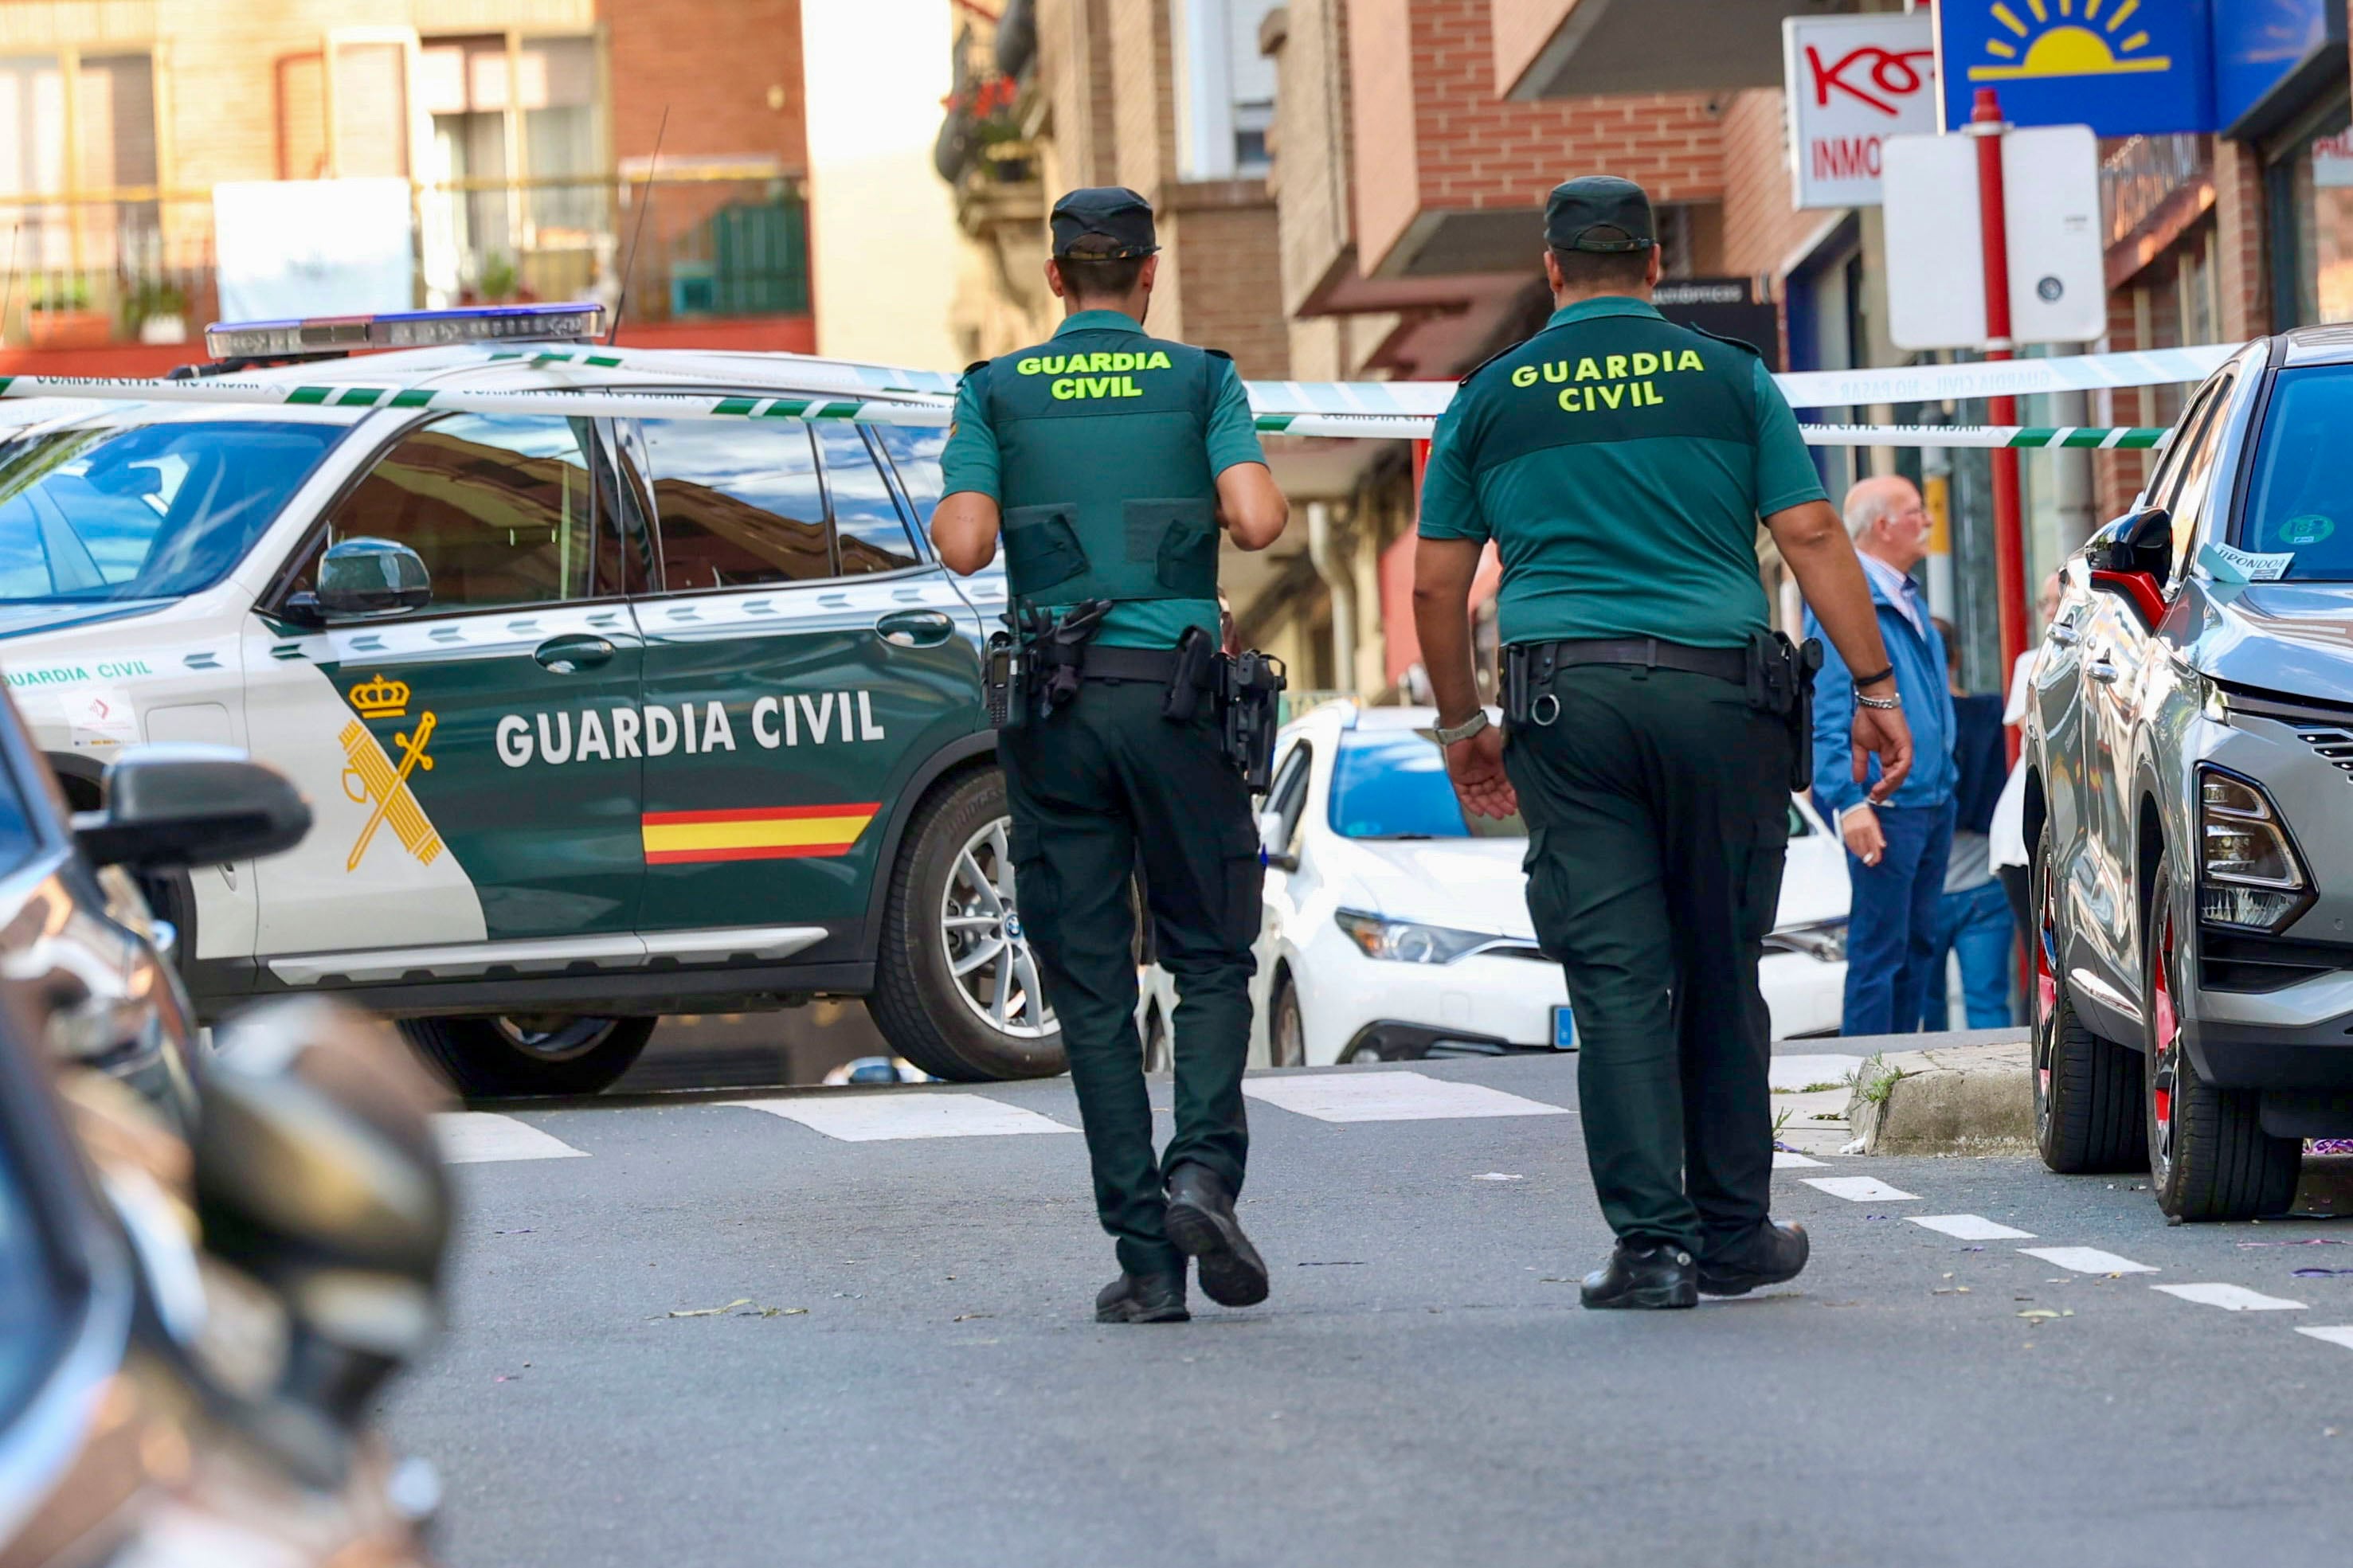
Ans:
[[[1217,597],[1221,369],[1214,350],[1132,331],[1068,331],[988,362],[1016,602]]]

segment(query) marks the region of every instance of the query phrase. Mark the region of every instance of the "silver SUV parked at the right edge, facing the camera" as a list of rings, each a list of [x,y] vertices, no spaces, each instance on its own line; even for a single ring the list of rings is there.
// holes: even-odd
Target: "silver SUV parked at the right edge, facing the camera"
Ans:
[[[2066,564],[2026,762],[2045,1164],[2287,1208],[2353,1133],[2353,329],[2198,388]]]

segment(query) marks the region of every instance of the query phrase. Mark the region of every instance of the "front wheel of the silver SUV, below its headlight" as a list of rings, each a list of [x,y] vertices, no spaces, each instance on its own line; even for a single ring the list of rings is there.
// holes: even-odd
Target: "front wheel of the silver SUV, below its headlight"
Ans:
[[[2304,1168],[2301,1138],[2264,1131],[2264,1095],[2217,1088],[2181,1046],[2181,940],[2172,856],[2158,860],[2141,943],[2148,1016],[2148,1185],[2177,1220],[2252,1220],[2285,1213]]]

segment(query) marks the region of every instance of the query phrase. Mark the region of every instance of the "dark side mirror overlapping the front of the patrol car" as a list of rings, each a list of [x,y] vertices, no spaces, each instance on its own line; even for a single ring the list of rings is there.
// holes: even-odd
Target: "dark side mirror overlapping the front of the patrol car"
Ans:
[[[73,818],[94,865],[226,865],[294,849],[311,804],[278,769],[226,745],[136,745],[106,769],[106,806]]]

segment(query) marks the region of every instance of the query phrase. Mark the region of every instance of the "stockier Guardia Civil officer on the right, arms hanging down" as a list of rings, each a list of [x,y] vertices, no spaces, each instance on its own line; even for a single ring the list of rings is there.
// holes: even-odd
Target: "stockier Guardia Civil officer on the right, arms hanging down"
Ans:
[[[1857,780],[1875,752],[1878,792],[1901,783],[1911,736],[1854,545],[1762,360],[1649,306],[1649,197],[1574,179],[1544,237],[1551,322],[1475,369],[1438,425],[1414,621],[1454,788],[1527,818],[1529,914],[1567,971],[1586,1157],[1617,1232],[1584,1305],[1692,1307],[1807,1258],[1767,1213],[1758,957],[1809,755],[1809,661],[1767,630],[1758,520],[1864,677]],[[1487,541],[1504,733],[1471,670]]]

